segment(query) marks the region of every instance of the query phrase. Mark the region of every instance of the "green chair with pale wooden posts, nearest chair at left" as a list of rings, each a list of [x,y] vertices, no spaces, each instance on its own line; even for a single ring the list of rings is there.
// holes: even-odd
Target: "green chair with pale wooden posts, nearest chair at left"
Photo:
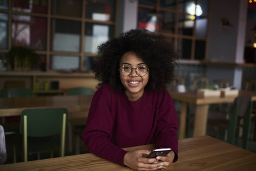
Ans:
[[[25,109],[21,113],[19,136],[13,137],[14,162],[16,153],[22,152],[23,161],[27,161],[27,153],[53,152],[59,150],[64,156],[66,108]]]

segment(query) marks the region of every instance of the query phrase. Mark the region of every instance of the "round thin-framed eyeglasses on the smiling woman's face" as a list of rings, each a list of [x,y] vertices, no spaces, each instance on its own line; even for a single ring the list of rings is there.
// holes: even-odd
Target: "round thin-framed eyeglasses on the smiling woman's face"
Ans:
[[[139,76],[144,76],[148,73],[149,68],[146,66],[137,66],[137,68],[131,68],[130,66],[121,66],[120,69],[120,74],[123,76],[128,76],[132,73],[132,69],[136,70],[136,74]]]

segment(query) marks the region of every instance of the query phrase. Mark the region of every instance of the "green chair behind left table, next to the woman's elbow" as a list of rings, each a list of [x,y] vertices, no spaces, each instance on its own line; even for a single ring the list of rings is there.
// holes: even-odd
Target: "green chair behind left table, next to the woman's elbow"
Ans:
[[[74,88],[68,88],[66,95],[94,95],[94,91],[90,87],[74,87]],[[79,112],[79,113],[82,113],[82,112]],[[86,115],[87,113],[88,113],[88,111],[83,111],[83,115]],[[79,152],[80,152],[79,141],[80,141],[80,138],[82,137],[84,128],[86,128],[87,118],[72,119],[71,116],[72,116],[72,113],[69,113],[69,115],[68,115],[69,149],[70,149],[70,152],[72,152],[72,133],[74,133],[75,139],[76,139],[76,152],[75,153],[79,154]],[[84,124],[82,124],[82,123],[84,123]]]

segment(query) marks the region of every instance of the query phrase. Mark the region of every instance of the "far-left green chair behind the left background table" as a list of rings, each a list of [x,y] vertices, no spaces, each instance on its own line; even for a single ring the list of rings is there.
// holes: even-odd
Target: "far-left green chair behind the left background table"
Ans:
[[[13,97],[31,97],[32,91],[29,88],[4,88],[0,91],[0,97],[13,98]],[[3,128],[5,128],[5,135],[13,135],[19,132],[18,123],[20,116],[4,117]]]

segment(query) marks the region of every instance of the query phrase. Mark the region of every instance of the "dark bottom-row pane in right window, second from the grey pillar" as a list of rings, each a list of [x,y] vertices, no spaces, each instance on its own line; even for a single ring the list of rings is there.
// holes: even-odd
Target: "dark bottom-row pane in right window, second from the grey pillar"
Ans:
[[[178,58],[190,59],[191,47],[192,47],[192,40],[178,39],[178,46],[177,46]]]

